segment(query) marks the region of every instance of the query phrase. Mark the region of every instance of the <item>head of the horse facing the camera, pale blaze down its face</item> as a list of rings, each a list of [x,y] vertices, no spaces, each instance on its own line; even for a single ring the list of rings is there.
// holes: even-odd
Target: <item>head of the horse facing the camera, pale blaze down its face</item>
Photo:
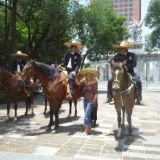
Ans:
[[[119,91],[125,83],[126,78],[126,62],[115,63],[112,61],[112,89]]]

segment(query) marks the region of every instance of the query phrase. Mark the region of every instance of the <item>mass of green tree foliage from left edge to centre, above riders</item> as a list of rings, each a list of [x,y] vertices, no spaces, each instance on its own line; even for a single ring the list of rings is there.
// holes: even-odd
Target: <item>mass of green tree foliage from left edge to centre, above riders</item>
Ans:
[[[11,4],[7,6],[7,23],[11,26],[12,1],[8,2]],[[91,49],[90,59],[104,58],[112,51],[112,44],[126,35],[124,18],[115,14],[112,5],[104,4],[103,0],[86,7],[78,0],[17,1],[16,50],[39,61],[53,63],[64,56],[64,42],[77,38]],[[8,41],[4,41],[4,9],[4,1],[0,0],[0,51],[5,55],[10,49],[12,29],[8,27]]]

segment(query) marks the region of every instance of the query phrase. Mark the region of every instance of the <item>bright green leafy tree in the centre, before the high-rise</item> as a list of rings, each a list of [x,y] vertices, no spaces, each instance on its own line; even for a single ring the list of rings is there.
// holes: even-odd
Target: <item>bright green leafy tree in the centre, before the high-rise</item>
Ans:
[[[74,5],[77,3],[74,2]],[[90,60],[107,58],[113,50],[112,44],[121,41],[127,35],[124,27],[125,18],[116,15],[111,0],[96,0],[90,6],[78,7],[77,10],[73,10],[71,16],[74,35],[78,35],[89,49],[86,54]]]

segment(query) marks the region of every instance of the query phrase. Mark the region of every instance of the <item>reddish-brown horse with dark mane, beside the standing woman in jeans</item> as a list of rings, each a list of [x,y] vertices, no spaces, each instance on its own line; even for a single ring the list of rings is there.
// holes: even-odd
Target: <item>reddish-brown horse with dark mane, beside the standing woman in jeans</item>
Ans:
[[[59,74],[57,74],[59,73]],[[43,86],[45,96],[49,101],[50,106],[50,120],[47,126],[47,131],[51,131],[52,125],[54,129],[59,128],[58,111],[62,101],[66,97],[67,92],[67,76],[64,72],[58,72],[44,63],[30,61],[28,62],[21,73],[23,77],[36,76]],[[82,96],[81,87],[76,87],[73,95],[73,100]],[[53,114],[55,116],[55,124],[53,122]]]

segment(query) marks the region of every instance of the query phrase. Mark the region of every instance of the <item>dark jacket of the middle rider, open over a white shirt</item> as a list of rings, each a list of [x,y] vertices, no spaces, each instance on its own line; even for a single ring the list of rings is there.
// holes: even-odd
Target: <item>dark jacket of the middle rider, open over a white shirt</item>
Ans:
[[[67,65],[70,59],[71,59],[71,68],[68,68]],[[81,65],[81,55],[79,53],[74,53],[74,54],[71,54],[70,52],[66,53],[62,65],[67,69],[68,72],[75,71],[77,73]]]

